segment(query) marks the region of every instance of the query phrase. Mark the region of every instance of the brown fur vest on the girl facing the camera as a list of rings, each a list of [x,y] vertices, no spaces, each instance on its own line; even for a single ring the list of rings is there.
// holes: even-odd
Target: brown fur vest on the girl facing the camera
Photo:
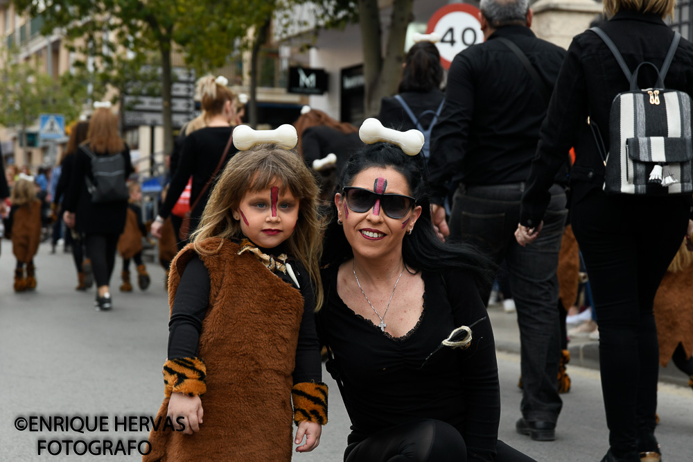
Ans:
[[[220,241],[207,239],[202,248],[215,250]],[[200,255],[211,281],[198,354],[207,365],[204,423],[193,435],[152,431],[143,461],[291,460],[292,372],[304,301],[238,250],[225,240],[217,253]],[[188,244],[171,264],[169,306],[194,252]],[[167,410],[165,398],[157,417],[165,419]]]

